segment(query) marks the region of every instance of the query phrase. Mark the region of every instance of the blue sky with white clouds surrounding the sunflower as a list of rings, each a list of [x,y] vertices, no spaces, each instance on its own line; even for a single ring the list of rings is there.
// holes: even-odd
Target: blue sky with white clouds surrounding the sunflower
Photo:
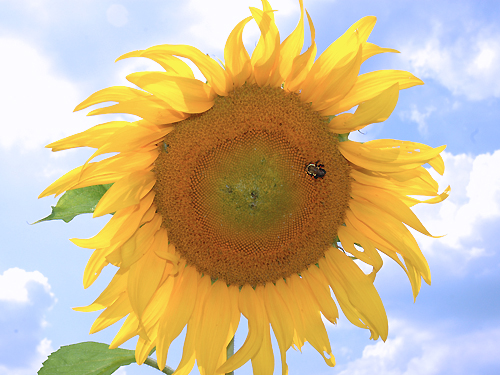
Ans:
[[[365,15],[377,25],[369,39],[401,54],[371,58],[363,71],[406,69],[425,86],[404,90],[385,123],[355,140],[407,139],[447,144],[446,172],[436,176],[450,198],[417,207],[441,239],[416,235],[431,271],[413,303],[403,271],[386,261],[376,286],[389,317],[387,342],[341,317],[328,325],[335,368],[306,345],[290,350],[290,374],[497,374],[500,372],[500,3],[491,1],[304,0],[319,52]],[[181,5],[182,4],[182,5]],[[271,1],[282,38],[295,27],[298,1]],[[90,252],[69,238],[88,238],[108,218],[28,223],[55,200],[37,200],[54,179],[82,164],[90,150],[51,153],[43,146],[112,117],[85,117],[73,108],[91,93],[128,84],[133,71],[157,69],[121,54],[155,44],[191,44],[223,57],[227,35],[254,0],[62,1],[0,0],[0,375],[35,373],[48,353],[81,341],[110,342],[115,325],[88,335],[98,313],[78,313],[107,285],[109,266],[88,290],[82,275]],[[244,34],[252,49],[258,39]],[[99,116],[98,116],[99,117]],[[243,323],[241,326],[245,326]],[[245,333],[238,333],[241,345]],[[134,341],[124,345],[133,348]],[[169,362],[178,363],[179,346]],[[278,373],[277,364],[276,373]],[[158,373],[145,366],[118,374]],[[197,373],[194,371],[193,373]],[[248,365],[236,374],[250,374]]]

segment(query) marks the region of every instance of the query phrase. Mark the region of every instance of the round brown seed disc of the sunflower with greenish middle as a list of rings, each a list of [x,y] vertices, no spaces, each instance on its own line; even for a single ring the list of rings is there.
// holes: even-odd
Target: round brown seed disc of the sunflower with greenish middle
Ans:
[[[155,203],[188,264],[258,285],[318,262],[350,191],[326,124],[296,94],[254,85],[176,124],[159,146]]]

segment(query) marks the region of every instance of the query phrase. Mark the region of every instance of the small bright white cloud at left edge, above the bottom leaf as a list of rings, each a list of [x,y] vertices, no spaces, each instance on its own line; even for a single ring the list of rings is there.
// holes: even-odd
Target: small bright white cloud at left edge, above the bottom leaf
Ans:
[[[48,279],[38,271],[27,272],[20,268],[10,268],[0,275],[0,301],[29,303],[29,287],[40,284],[51,297]]]

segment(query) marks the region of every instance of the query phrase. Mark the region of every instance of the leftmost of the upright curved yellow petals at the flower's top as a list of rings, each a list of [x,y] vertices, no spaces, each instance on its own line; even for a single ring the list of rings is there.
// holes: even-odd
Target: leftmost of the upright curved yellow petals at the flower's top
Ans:
[[[234,88],[242,86],[252,74],[250,55],[243,45],[243,29],[252,19],[247,17],[231,31],[224,48],[226,69],[233,78]]]

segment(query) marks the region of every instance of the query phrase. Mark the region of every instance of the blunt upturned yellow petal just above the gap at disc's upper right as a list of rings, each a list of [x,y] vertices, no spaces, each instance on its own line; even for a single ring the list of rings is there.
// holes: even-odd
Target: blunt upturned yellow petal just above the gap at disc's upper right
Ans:
[[[396,108],[398,97],[399,84],[395,83],[374,98],[361,103],[354,114],[347,113],[334,117],[328,128],[337,134],[344,134],[362,129],[369,124],[383,122]]]

